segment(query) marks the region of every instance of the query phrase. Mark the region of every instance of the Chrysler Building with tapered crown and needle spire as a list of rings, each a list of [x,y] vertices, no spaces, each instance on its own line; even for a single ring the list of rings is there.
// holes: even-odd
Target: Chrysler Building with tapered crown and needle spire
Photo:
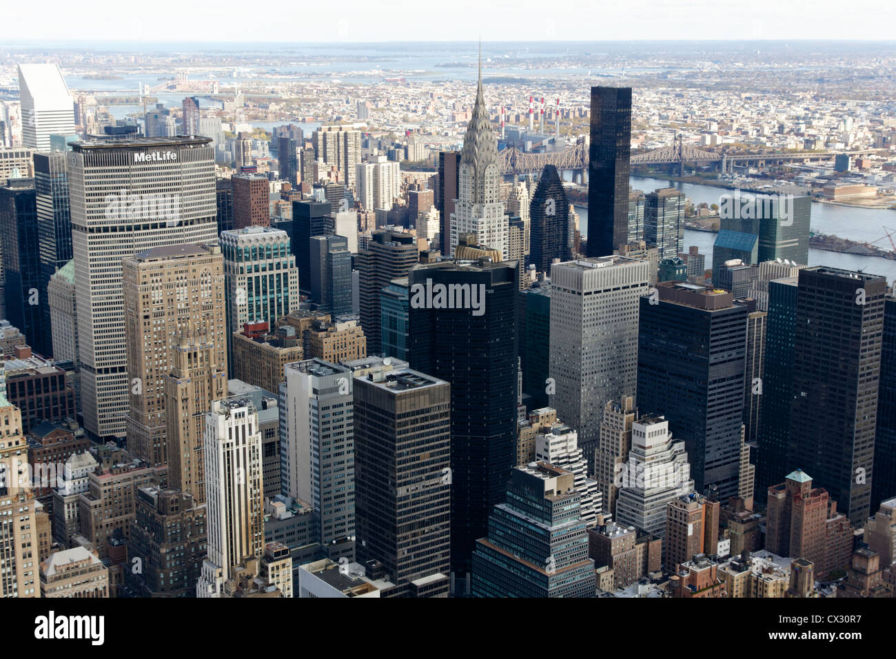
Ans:
[[[510,225],[501,201],[501,162],[498,140],[492,132],[486,101],[482,95],[482,54],[473,116],[463,137],[461,167],[458,172],[460,198],[451,214],[450,255],[463,233],[476,234],[477,245],[485,245],[509,257]]]

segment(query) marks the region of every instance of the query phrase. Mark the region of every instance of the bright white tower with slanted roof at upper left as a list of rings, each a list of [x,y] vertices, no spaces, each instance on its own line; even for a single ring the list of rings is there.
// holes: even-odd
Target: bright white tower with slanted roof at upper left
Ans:
[[[74,133],[72,93],[57,64],[20,64],[22,146],[50,151],[50,135]]]

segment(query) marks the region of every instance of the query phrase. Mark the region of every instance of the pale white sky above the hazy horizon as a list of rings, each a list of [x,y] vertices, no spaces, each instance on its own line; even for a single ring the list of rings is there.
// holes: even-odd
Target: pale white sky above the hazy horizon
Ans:
[[[39,14],[35,7],[39,6]],[[893,0],[8,0],[4,41],[896,39]],[[44,17],[39,22],[36,18]]]

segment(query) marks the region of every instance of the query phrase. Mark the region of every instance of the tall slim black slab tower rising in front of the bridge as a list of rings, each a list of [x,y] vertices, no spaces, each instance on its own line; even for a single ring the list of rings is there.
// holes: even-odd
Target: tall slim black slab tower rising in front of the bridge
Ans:
[[[591,87],[588,256],[608,256],[629,241],[632,88]]]

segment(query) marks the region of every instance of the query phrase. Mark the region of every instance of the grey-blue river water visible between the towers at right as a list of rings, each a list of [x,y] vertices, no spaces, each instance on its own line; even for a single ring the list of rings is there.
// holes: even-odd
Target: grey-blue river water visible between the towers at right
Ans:
[[[651,192],[659,187],[675,187],[687,198],[700,204],[719,204],[719,195],[730,193],[721,187],[701,186],[693,183],[680,183],[661,178],[632,177],[632,186],[636,190]],[[588,235],[588,209],[576,206],[579,213],[579,226],[582,235]],[[882,208],[853,208],[833,204],[812,204],[812,230],[828,233],[840,238],[848,238],[858,242],[870,242],[884,238],[883,227],[896,227],[896,211]],[[687,247],[696,245],[700,253],[706,255],[707,267],[712,263],[712,243],[716,234],[709,231],[685,230],[685,251]],[[884,238],[875,243],[878,247],[888,248],[889,240]],[[858,256],[856,254],[840,254],[822,249],[809,250],[809,265],[830,265],[846,270],[862,270],[869,274],[879,274],[888,282],[896,280],[896,261],[879,256]]]

